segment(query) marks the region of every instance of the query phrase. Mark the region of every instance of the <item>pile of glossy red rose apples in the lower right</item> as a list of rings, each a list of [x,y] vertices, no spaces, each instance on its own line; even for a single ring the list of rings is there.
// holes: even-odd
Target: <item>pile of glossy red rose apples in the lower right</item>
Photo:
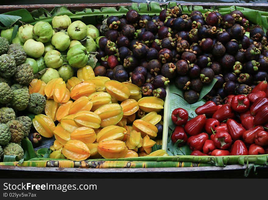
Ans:
[[[172,111],[171,141],[189,145],[193,156],[268,153],[268,84],[259,82],[247,95],[229,95],[224,104],[207,101],[188,119],[185,109]],[[178,141],[179,140],[179,141]]]

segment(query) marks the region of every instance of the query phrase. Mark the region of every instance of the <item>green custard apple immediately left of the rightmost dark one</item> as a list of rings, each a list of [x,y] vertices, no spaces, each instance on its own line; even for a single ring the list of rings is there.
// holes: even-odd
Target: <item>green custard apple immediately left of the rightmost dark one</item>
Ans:
[[[11,107],[18,111],[25,110],[30,99],[29,89],[16,89],[13,93],[14,95],[10,102]]]

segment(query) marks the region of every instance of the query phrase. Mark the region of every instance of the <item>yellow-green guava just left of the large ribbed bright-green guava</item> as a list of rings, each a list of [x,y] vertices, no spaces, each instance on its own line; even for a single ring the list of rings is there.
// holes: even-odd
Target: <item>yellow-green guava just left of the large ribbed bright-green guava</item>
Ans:
[[[45,64],[48,68],[57,69],[62,66],[61,53],[57,50],[48,51],[44,56]]]

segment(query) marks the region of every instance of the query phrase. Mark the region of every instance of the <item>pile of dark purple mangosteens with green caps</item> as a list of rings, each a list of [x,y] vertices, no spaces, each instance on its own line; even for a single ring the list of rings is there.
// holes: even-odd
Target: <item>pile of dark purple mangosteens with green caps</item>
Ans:
[[[95,74],[136,84],[143,96],[164,99],[172,82],[192,104],[216,78],[205,98],[221,104],[229,94],[250,93],[268,79],[266,34],[238,10],[225,15],[194,10],[188,15],[174,6],[152,17],[129,10],[96,27],[102,37]]]

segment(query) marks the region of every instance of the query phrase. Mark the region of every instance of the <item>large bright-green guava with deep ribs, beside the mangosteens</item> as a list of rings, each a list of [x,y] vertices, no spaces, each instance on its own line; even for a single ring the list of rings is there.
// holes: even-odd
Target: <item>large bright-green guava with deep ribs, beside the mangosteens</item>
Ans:
[[[69,65],[72,67],[84,67],[88,61],[88,52],[86,51],[86,47],[80,44],[74,45],[67,52],[67,60]]]

